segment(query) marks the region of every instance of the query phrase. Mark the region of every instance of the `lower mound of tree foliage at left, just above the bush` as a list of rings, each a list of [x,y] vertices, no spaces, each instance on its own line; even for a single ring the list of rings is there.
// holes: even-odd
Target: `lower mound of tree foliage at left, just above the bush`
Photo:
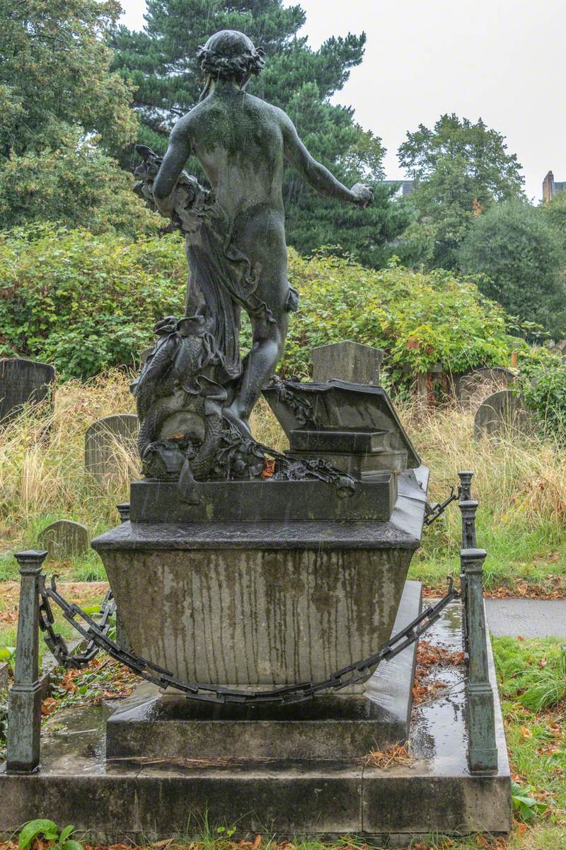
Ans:
[[[70,133],[57,150],[13,153],[0,161],[0,230],[40,221],[134,238],[162,219],[132,191],[133,178],[96,144]]]

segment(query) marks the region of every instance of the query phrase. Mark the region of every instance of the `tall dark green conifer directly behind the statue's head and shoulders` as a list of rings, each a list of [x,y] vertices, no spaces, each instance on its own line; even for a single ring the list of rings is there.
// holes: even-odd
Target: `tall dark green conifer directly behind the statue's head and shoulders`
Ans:
[[[364,132],[349,108],[329,101],[344,86],[350,68],[360,64],[363,33],[328,38],[312,50],[297,35],[305,12],[298,5],[283,7],[282,0],[149,0],[146,21],[143,32],[121,26],[110,40],[114,67],[136,88],[140,142],[165,150],[172,125],[199,98],[197,48],[213,32],[236,29],[266,51],[266,67],[249,82],[249,92],[287,111],[312,154],[344,183],[383,179],[381,139]],[[132,156],[122,161],[132,166]],[[188,167],[202,176],[196,161]],[[345,211],[289,170],[283,187],[289,244],[308,253],[339,241],[362,262],[379,263],[385,242],[411,220],[392,194],[383,187],[372,208]]]

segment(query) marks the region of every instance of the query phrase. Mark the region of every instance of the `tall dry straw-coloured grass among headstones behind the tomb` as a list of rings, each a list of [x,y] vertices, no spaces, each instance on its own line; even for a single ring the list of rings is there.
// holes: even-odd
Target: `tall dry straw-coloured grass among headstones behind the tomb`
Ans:
[[[86,384],[62,383],[52,412],[24,411],[0,428],[0,552],[35,545],[38,532],[53,519],[76,519],[92,534],[116,524],[115,505],[127,501],[129,482],[139,475],[135,447],[116,442],[117,473],[99,484],[84,467],[84,438],[97,419],[135,411],[131,380],[125,371],[112,371]],[[526,582],[544,592],[566,592],[566,453],[561,445],[536,433],[474,441],[473,416],[457,405],[426,414],[407,401],[396,407],[430,467],[432,501],[441,501],[457,484],[458,470],[474,470],[478,545],[489,553],[488,586]],[[286,447],[263,400],[251,426],[261,442],[278,450]],[[459,541],[460,515],[451,506],[426,531],[412,575],[439,586],[446,572],[457,570]],[[94,558],[82,558],[76,570],[100,577]],[[0,559],[0,578],[2,570]]]

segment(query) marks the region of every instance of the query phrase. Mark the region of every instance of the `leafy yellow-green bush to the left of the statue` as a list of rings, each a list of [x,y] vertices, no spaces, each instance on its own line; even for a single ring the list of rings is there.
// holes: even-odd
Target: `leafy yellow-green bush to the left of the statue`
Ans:
[[[0,355],[91,377],[132,363],[154,322],[182,313],[186,261],[177,235],[136,242],[49,224],[0,235]]]

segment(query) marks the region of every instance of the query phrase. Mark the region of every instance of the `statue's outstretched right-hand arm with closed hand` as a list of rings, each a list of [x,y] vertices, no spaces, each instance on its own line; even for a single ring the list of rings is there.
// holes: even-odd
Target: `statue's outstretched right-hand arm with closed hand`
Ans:
[[[301,142],[294,123],[283,111],[279,111],[282,119],[283,149],[285,159],[311,184],[321,195],[331,195],[339,201],[356,204],[356,207],[367,207],[373,201],[373,189],[356,183],[351,189],[334,177],[320,162],[311,156]]]

